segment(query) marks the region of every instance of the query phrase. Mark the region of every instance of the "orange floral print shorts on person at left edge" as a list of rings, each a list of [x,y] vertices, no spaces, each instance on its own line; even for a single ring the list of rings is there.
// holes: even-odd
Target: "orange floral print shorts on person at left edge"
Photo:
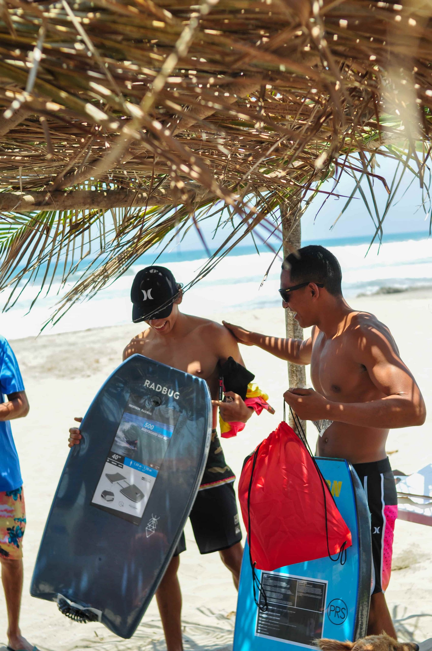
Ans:
[[[0,556],[22,559],[25,531],[23,487],[0,492]]]

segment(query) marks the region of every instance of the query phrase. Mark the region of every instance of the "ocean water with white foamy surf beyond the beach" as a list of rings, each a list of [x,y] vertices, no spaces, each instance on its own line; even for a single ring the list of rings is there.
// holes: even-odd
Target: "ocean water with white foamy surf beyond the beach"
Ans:
[[[370,251],[368,238],[303,242],[303,245],[308,243],[322,243],[336,255],[342,267],[342,287],[347,299],[360,293],[371,294],[381,287],[432,285],[432,238],[425,233],[388,235],[381,247],[374,243]],[[152,264],[156,256],[157,253],[143,256],[139,264],[94,298],[74,305],[58,324],[44,329],[44,334],[130,323],[129,292],[133,275],[142,266]],[[204,251],[182,253],[177,249],[161,255],[157,264],[168,266],[179,283],[187,284],[205,261]],[[234,310],[277,307],[281,261],[282,258],[275,259],[268,250],[258,255],[253,247],[239,248],[185,292],[182,309],[189,314],[226,314],[229,318],[229,312]],[[271,270],[263,283],[269,266]],[[8,339],[38,335],[69,286],[53,283],[49,295],[41,294],[31,311],[31,302],[40,287],[35,284],[25,288],[16,305],[0,315],[0,333]],[[0,299],[3,304],[6,298],[7,292],[3,292]]]

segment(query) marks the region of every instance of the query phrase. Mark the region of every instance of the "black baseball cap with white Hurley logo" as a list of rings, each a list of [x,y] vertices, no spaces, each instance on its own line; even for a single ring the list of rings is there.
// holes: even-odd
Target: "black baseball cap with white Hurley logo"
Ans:
[[[176,279],[165,267],[146,267],[137,273],[131,287],[132,321],[163,319],[172,312],[178,295]]]

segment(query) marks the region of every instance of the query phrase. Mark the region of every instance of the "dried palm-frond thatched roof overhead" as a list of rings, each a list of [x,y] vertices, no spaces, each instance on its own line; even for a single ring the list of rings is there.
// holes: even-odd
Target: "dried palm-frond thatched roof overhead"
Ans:
[[[271,232],[342,167],[373,179],[378,150],[422,182],[430,2],[1,6],[0,288],[59,260],[66,280],[96,238],[69,307],[215,210],[229,246]]]

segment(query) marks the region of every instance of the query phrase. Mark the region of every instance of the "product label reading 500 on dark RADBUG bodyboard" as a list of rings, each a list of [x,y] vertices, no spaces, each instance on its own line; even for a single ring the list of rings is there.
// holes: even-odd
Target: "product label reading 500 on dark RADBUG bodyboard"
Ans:
[[[139,524],[180,413],[131,394],[92,505]]]

